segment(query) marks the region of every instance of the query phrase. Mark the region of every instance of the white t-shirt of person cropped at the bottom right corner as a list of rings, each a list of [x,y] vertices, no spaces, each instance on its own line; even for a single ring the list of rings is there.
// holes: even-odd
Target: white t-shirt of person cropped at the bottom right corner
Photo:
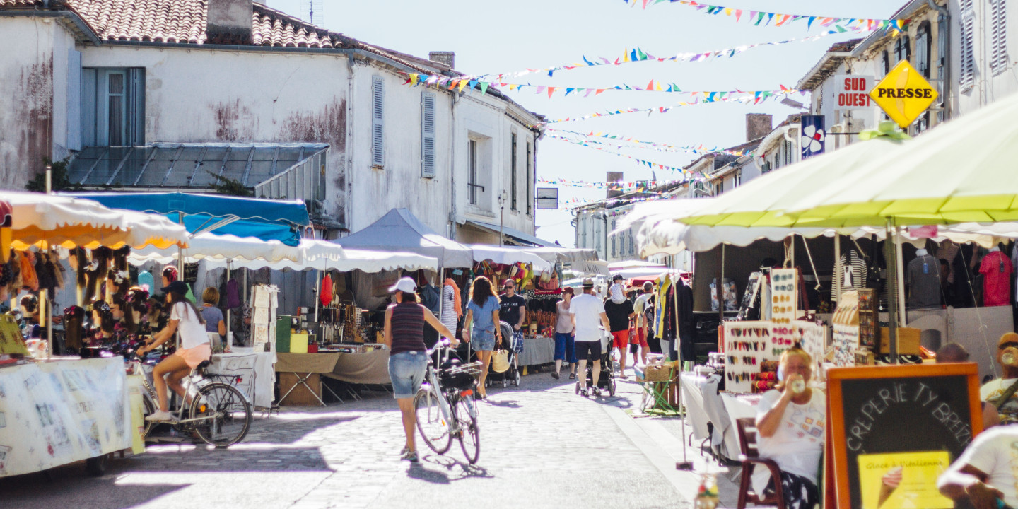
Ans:
[[[995,426],[980,433],[955,465],[969,464],[989,475],[986,484],[1004,494],[1004,503],[1018,507],[1018,428]]]

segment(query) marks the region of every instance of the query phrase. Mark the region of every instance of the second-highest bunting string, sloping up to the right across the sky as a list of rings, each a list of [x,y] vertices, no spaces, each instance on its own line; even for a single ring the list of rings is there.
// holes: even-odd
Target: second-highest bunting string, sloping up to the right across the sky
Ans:
[[[765,47],[765,46],[779,46],[779,45],[791,44],[791,43],[808,43],[808,42],[813,42],[813,41],[816,41],[816,40],[819,40],[819,39],[823,39],[823,38],[826,38],[826,37],[830,37],[830,36],[839,36],[841,34],[847,34],[847,33],[853,33],[853,34],[858,34],[858,35],[865,35],[865,34],[868,34],[869,32],[871,32],[871,31],[867,31],[867,30],[851,30],[850,31],[850,30],[843,29],[841,26],[836,26],[835,29],[829,30],[829,31],[827,31],[827,32],[825,32],[823,34],[817,34],[815,36],[809,36],[809,37],[805,37],[805,38],[786,39],[784,41],[774,41],[774,42],[770,42],[770,43],[750,44],[750,45],[738,46],[738,47],[735,47],[735,48],[726,48],[726,49],[723,49],[723,50],[705,51],[705,52],[701,52],[701,53],[678,53],[678,54],[675,54],[675,55],[670,56],[670,57],[656,57],[656,56],[652,55],[651,53],[643,51],[641,48],[634,48],[632,50],[630,50],[629,48],[626,48],[626,50],[624,52],[622,52],[622,56],[616,57],[614,60],[613,59],[609,59],[609,58],[605,58],[605,57],[587,58],[584,55],[582,57],[582,59],[583,59],[582,62],[573,62],[573,63],[568,63],[568,64],[561,64],[561,65],[556,65],[556,66],[553,66],[553,67],[545,67],[543,69],[527,68],[527,69],[524,69],[524,70],[521,70],[521,71],[516,71],[516,72],[505,72],[505,73],[499,73],[499,74],[494,74],[494,73],[476,74],[476,75],[463,76],[463,77],[466,78],[466,79],[482,79],[482,78],[485,78],[485,77],[492,76],[493,79],[491,79],[491,80],[493,80],[493,81],[501,81],[501,80],[503,80],[505,78],[519,77],[519,76],[524,76],[526,74],[531,74],[531,73],[541,73],[541,74],[546,74],[547,73],[549,76],[552,76],[552,75],[554,75],[555,72],[558,72],[558,71],[581,69],[581,68],[587,68],[587,67],[600,67],[600,66],[603,66],[603,65],[615,65],[615,66],[618,66],[618,65],[625,65],[625,64],[637,63],[637,62],[678,62],[678,63],[682,63],[682,62],[704,62],[704,61],[708,61],[708,60],[716,60],[716,59],[720,59],[720,58],[732,58],[735,55],[738,55],[738,54],[743,53],[745,51],[749,51],[749,50],[754,49],[754,48],[761,48],[761,47]]]

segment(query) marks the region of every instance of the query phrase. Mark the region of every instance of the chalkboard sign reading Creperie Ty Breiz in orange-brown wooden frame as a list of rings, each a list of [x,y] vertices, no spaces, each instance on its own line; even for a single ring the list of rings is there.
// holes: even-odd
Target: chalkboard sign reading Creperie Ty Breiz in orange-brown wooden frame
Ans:
[[[837,507],[951,509],[937,477],[981,431],[974,363],[828,372]]]

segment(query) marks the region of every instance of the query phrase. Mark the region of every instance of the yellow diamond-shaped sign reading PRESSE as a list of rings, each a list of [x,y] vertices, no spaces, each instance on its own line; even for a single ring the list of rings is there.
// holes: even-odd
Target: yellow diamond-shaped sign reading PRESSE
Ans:
[[[937,91],[908,60],[902,60],[869,91],[869,97],[891,120],[904,128],[912,125],[934,104]]]

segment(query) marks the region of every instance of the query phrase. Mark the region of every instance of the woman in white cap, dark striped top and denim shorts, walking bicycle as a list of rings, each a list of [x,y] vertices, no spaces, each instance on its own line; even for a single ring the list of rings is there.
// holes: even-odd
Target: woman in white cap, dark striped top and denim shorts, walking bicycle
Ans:
[[[450,338],[453,346],[459,344],[455,334],[442,325],[432,312],[417,303],[417,285],[413,278],[402,278],[389,288],[396,301],[385,310],[385,344],[389,348],[389,378],[392,393],[403,416],[406,446],[400,459],[417,462],[417,446],[413,433],[417,417],[413,412],[413,397],[420,389],[428,371],[428,347],[425,345],[425,322]]]

